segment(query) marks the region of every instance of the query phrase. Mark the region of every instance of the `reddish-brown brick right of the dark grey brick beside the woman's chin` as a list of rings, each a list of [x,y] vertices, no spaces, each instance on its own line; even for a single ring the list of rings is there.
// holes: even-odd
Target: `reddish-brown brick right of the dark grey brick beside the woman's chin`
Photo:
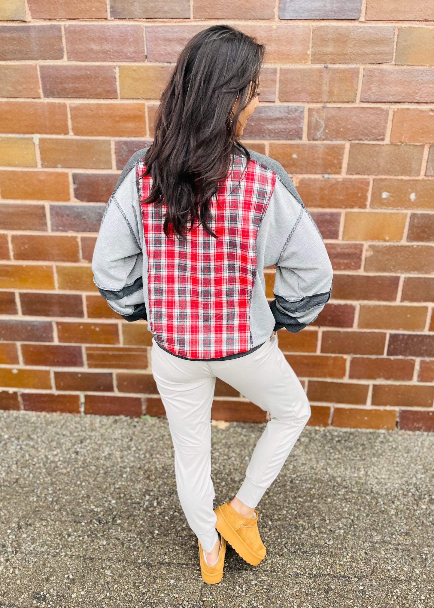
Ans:
[[[387,119],[386,108],[310,108],[308,139],[381,140]]]

